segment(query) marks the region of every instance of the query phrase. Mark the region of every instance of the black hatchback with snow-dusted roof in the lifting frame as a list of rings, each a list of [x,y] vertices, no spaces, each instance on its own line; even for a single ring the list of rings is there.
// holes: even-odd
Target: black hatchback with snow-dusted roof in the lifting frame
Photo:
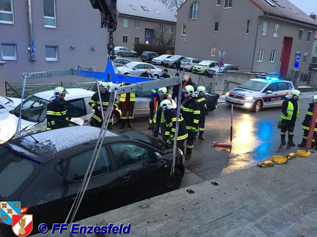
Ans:
[[[21,201],[37,226],[63,223],[92,157],[100,128],[73,126],[17,138],[0,146],[0,201]],[[172,146],[130,131],[107,131],[75,220],[178,189],[185,166]],[[0,237],[12,236],[0,223]]]

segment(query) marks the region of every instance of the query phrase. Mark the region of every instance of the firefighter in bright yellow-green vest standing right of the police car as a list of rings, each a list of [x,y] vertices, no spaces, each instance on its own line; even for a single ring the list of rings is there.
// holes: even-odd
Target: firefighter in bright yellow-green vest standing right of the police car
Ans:
[[[299,118],[299,96],[301,92],[299,90],[292,90],[291,94],[286,96],[286,99],[282,104],[281,114],[281,144],[286,145],[285,136],[288,130],[288,142],[287,145],[294,147],[294,127],[296,118]]]

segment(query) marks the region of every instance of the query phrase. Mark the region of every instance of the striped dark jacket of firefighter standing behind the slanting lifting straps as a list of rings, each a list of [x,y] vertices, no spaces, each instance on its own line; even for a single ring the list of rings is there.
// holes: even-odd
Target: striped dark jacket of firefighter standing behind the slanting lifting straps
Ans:
[[[110,98],[111,93],[110,92],[106,92],[106,93],[100,93],[100,97],[101,100],[103,102],[103,111],[104,111],[104,115],[106,115],[106,109],[108,107],[109,104],[109,98]],[[101,111],[99,111],[97,109],[98,106],[100,106],[100,101],[99,101],[99,95],[98,92],[96,92],[90,99],[89,103],[88,103],[94,110],[95,113],[93,114],[93,118],[95,118],[97,121],[102,122],[103,121],[103,116],[101,114]],[[118,102],[115,100],[114,102],[114,107],[116,107],[118,104]],[[112,122],[112,118],[108,119],[109,122]]]

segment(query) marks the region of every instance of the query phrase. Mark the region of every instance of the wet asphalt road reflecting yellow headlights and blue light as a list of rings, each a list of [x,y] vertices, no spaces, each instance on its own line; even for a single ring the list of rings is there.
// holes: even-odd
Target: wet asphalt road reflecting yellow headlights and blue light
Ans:
[[[311,103],[310,96],[314,93],[304,94],[299,101],[300,119],[296,121],[295,144],[301,143],[303,136],[301,123]],[[212,147],[213,142],[230,142],[230,114],[231,108],[226,104],[219,104],[215,111],[209,113],[204,134],[206,141],[197,138],[192,158],[186,161],[187,169],[196,177],[199,176],[201,181],[270,160],[273,155],[288,155],[290,152],[296,152],[297,146],[294,148],[289,148],[287,145],[280,146],[280,130],[277,128],[277,121],[281,115],[280,108],[263,109],[259,113],[234,108],[233,149],[229,152],[226,149]],[[147,129],[148,118],[137,119],[133,121],[133,125],[138,131],[151,134]],[[118,126],[113,130],[122,131]]]

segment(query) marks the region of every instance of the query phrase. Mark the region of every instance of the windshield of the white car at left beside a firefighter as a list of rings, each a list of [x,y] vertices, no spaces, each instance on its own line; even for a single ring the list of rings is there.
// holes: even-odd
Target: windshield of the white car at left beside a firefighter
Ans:
[[[49,103],[49,100],[32,95],[23,101],[21,118],[30,122],[43,122],[46,118],[46,108]],[[21,105],[18,105],[13,110],[16,117],[20,116],[20,107]]]

